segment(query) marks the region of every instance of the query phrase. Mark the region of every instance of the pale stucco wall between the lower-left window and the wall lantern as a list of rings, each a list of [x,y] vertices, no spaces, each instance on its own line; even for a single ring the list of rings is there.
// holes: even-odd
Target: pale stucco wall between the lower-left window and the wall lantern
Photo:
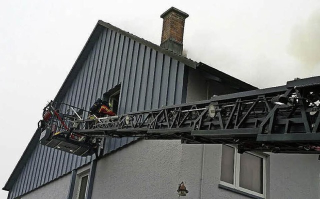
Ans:
[[[180,161],[178,140],[135,142],[98,160],[92,198],[172,198]]]

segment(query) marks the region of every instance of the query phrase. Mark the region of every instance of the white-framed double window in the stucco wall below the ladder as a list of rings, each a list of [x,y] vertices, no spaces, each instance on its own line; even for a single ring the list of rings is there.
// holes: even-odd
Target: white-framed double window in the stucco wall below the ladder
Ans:
[[[233,145],[222,145],[221,184],[259,197],[265,197],[266,156],[236,152]]]

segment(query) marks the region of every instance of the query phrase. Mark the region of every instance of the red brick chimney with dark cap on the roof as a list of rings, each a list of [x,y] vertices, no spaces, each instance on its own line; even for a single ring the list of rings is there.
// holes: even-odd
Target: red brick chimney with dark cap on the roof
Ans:
[[[182,55],[184,20],[189,15],[175,7],[161,14],[163,18],[161,47]]]

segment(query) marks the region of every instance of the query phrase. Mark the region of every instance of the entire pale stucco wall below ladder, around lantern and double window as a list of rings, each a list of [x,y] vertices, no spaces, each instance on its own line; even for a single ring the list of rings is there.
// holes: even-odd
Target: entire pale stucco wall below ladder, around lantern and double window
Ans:
[[[178,198],[181,181],[189,190],[184,198],[248,198],[218,187],[220,144],[204,146],[201,188],[202,152],[203,144],[178,140],[131,144],[97,162],[92,198]],[[318,163],[316,155],[270,154],[267,198],[319,198]]]

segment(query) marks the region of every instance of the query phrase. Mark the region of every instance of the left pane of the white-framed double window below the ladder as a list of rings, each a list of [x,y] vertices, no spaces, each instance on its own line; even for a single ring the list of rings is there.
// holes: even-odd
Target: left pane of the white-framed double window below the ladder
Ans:
[[[233,184],[234,148],[222,145],[221,181]]]

